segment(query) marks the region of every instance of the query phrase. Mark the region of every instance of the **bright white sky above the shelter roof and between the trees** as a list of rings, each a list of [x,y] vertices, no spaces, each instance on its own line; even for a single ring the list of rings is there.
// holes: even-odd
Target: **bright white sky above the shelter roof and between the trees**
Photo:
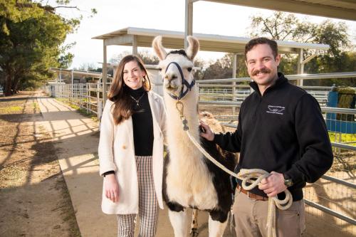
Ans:
[[[53,1],[48,0],[49,3]],[[72,0],[70,6],[75,9],[58,9],[57,13],[67,18],[83,14],[78,31],[67,36],[66,43],[76,42],[70,50],[75,55],[70,68],[79,68],[83,65],[100,66],[103,62],[103,41],[92,39],[104,33],[110,33],[127,27],[155,28],[167,31],[184,31],[184,3],[185,0]],[[56,5],[56,4],[53,4]],[[98,14],[93,17],[90,9],[95,8]],[[224,36],[248,37],[248,26],[251,16],[271,16],[273,11],[256,9],[245,6],[217,4],[209,1],[194,3],[193,32],[210,33]],[[327,18],[295,14],[301,20],[315,23],[325,21]],[[342,21],[333,19],[333,21]],[[356,22],[343,21],[349,27],[350,39],[356,41]],[[152,52],[151,48],[138,48],[138,50]],[[122,53],[132,51],[128,46],[108,46],[108,61],[110,58]],[[202,52],[197,55],[204,60],[221,58],[224,53]]]

